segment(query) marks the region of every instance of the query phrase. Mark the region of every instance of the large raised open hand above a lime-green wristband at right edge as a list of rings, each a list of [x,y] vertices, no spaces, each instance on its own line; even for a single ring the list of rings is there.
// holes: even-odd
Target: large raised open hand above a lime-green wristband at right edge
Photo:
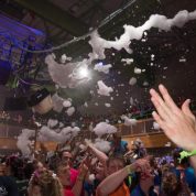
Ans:
[[[196,123],[189,110],[189,100],[179,109],[163,85],[159,89],[163,98],[154,89],[150,90],[151,100],[157,111],[152,113],[154,120],[175,144],[187,151],[196,150]]]

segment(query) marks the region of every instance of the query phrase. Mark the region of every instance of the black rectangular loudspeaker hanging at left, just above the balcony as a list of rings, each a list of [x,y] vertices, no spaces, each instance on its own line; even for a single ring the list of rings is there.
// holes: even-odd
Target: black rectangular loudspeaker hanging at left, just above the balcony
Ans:
[[[4,101],[4,111],[15,111],[15,110],[25,110],[26,109],[26,97],[7,97]]]

